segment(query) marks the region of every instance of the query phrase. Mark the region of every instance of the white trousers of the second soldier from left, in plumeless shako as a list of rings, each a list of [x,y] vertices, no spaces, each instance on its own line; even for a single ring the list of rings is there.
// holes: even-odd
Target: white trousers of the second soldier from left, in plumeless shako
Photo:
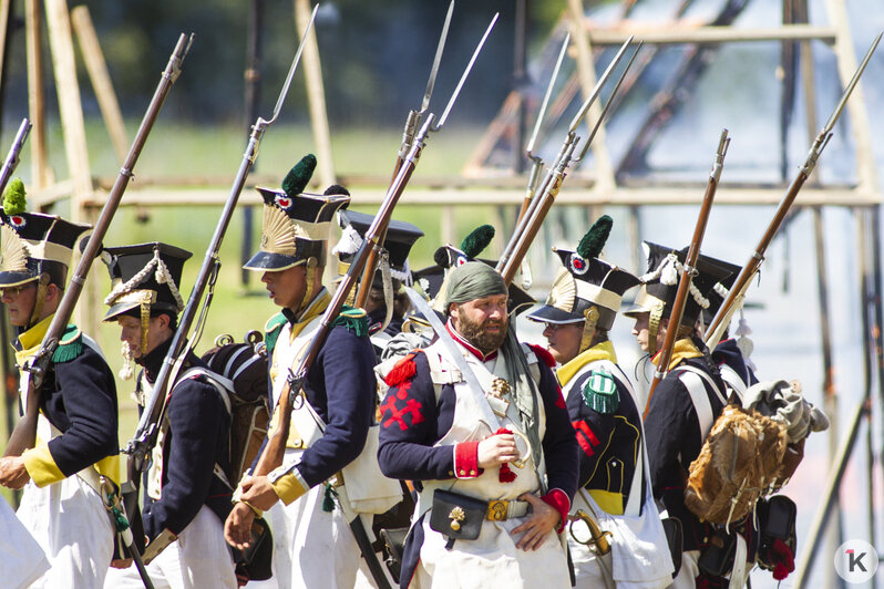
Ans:
[[[178,538],[147,565],[156,589],[236,589],[234,560],[218,516],[205,505]],[[111,569],[106,589],[143,589],[135,566]]]

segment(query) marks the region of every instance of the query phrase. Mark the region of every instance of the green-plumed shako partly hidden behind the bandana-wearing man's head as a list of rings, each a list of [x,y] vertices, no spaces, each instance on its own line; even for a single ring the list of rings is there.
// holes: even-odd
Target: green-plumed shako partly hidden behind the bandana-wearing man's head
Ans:
[[[491,225],[481,225],[463,238],[460,248],[455,248],[451,245],[440,247],[435,250],[435,254],[433,254],[435,266],[415,271],[414,281],[419,283],[428,297],[436,300],[436,304],[441,303],[436,294],[443,290],[449,270],[458,266],[463,266],[467,261],[481,261],[489,266],[497,265],[495,260],[479,258],[479,255],[491,244],[493,238],[494,227]],[[518,314],[535,302],[534,298],[515,282],[510,285],[507,311],[511,314]],[[436,310],[442,311],[442,309]]]

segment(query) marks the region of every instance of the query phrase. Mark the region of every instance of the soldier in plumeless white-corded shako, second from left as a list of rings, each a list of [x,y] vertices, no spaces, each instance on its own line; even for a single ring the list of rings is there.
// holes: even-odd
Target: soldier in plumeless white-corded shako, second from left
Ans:
[[[102,259],[112,290],[105,322],[120,326],[126,361],[142,366],[138,391],[146,396],[163,366],[184,301],[181,283],[189,251],[161,242],[105,248]],[[226,392],[193,351],[172,375],[171,392],[151,456],[142,519],[147,574],[154,586],[171,589],[236,588],[223,523],[230,512],[230,415]],[[223,386],[223,385],[222,385]],[[158,551],[158,552],[157,552]],[[113,569],[109,589],[143,587],[134,566]]]

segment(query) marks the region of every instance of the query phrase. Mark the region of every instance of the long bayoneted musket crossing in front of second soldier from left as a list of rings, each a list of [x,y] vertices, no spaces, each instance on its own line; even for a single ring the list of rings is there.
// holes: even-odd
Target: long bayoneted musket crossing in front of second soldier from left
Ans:
[[[184,311],[178,320],[178,329],[175,330],[175,334],[172,338],[172,344],[169,345],[166,356],[163,360],[163,364],[160,368],[160,372],[156,375],[153,392],[145,402],[144,411],[142,412],[141,420],[138,421],[138,426],[135,430],[135,435],[129,441],[126,447],[123,450],[123,452],[129,455],[129,480],[135,485],[136,488],[141,480],[138,473],[141,473],[144,468],[145,457],[147,456],[147,453],[151,452],[151,448],[153,448],[153,446],[156,444],[156,436],[160,433],[160,424],[163,423],[163,415],[166,411],[166,400],[168,396],[167,390],[169,389],[169,383],[173,382],[175,372],[177,372],[175,370],[176,362],[178,359],[184,358],[195,344],[195,341],[189,338],[191,328],[197,317],[197,311],[199,310],[203,294],[206,292],[207,288],[210,288],[210,282],[214,285],[214,278],[217,276],[217,271],[220,267],[218,252],[220,250],[222,241],[224,240],[224,236],[227,231],[230,218],[233,217],[236,204],[239,200],[239,195],[246,184],[246,178],[248,177],[248,174],[258,157],[258,149],[260,147],[260,141],[264,137],[264,133],[267,131],[267,127],[274,124],[278,118],[279,112],[282,108],[282,103],[288,95],[291,80],[295,76],[295,71],[298,69],[301,52],[304,51],[306,39],[308,38],[310,29],[312,28],[318,8],[318,4],[313,7],[310,22],[308,22],[307,29],[301,37],[300,45],[295,53],[295,58],[291,60],[291,65],[289,66],[288,75],[282,84],[282,90],[279,93],[279,97],[276,101],[273,116],[269,120],[259,116],[251,126],[251,133],[249,134],[246,152],[243,154],[243,161],[239,164],[239,169],[234,178],[234,183],[230,187],[230,193],[227,196],[227,202],[224,205],[222,216],[215,227],[215,234],[212,236],[212,240],[206,249],[206,255],[203,258],[203,266],[199,268],[199,273],[197,275],[194,287],[191,290],[187,304],[185,306]],[[210,303],[210,298],[212,294],[209,292],[201,317],[205,317],[208,304]]]

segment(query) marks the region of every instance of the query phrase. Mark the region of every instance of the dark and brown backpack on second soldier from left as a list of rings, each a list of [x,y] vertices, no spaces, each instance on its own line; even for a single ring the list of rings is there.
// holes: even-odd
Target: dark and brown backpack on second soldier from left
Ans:
[[[209,379],[225,395],[230,412],[230,465],[224,474],[232,488],[258,455],[270,422],[267,349],[261,340],[257,331],[249,331],[240,343],[230,335],[219,335],[215,348],[203,354],[209,370],[227,381]]]

